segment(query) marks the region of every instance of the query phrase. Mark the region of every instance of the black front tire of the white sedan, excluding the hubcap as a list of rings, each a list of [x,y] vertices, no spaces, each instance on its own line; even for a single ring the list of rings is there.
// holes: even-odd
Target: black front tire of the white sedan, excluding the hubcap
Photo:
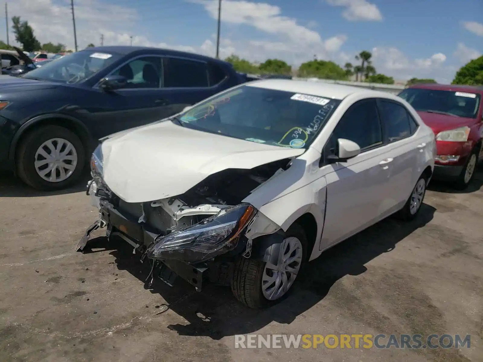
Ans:
[[[307,236],[303,228],[294,223],[285,233],[285,237],[297,237],[302,244],[302,263],[300,265],[300,271],[303,270],[304,264],[308,259],[308,242]],[[265,262],[256,259],[247,259],[240,256],[239,260],[235,264],[233,272],[233,278],[231,279],[231,292],[242,304],[253,309],[268,308],[274,304],[284,300],[286,296],[293,290],[293,286],[297,283],[296,278],[294,284],[290,289],[279,299],[269,300],[265,298],[262,292],[262,277],[265,269]]]

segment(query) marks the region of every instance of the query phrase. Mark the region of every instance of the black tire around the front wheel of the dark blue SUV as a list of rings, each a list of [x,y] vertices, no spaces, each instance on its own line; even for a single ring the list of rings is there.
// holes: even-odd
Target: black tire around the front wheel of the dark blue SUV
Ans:
[[[49,139],[69,141],[77,154],[77,164],[71,175],[64,181],[44,180],[35,169],[35,154],[43,142]],[[45,125],[30,131],[20,142],[16,152],[17,174],[22,181],[40,191],[60,190],[77,181],[85,167],[85,148],[79,137],[69,129],[57,125]]]

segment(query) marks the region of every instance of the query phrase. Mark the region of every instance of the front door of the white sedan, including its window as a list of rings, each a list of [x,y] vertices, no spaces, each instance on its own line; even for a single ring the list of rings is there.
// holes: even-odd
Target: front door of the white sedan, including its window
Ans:
[[[380,220],[391,186],[375,99],[360,100],[344,113],[323,150],[324,160],[335,154],[339,138],[356,142],[361,153],[344,163],[325,161],[327,204],[321,250]]]

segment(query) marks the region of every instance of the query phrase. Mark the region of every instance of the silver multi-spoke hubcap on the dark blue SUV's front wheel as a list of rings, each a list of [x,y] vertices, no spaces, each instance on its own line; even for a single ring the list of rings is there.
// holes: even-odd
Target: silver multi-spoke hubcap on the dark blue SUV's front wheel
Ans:
[[[42,143],[35,153],[35,170],[45,181],[67,180],[77,166],[77,151],[67,139],[54,138]]]

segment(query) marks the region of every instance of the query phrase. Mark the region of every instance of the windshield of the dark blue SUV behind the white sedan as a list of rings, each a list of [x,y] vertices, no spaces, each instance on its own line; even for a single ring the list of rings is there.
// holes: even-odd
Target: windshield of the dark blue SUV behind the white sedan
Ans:
[[[58,58],[55,62],[49,62],[28,72],[23,77],[69,84],[79,83],[109,66],[120,57],[118,54],[83,50]]]

